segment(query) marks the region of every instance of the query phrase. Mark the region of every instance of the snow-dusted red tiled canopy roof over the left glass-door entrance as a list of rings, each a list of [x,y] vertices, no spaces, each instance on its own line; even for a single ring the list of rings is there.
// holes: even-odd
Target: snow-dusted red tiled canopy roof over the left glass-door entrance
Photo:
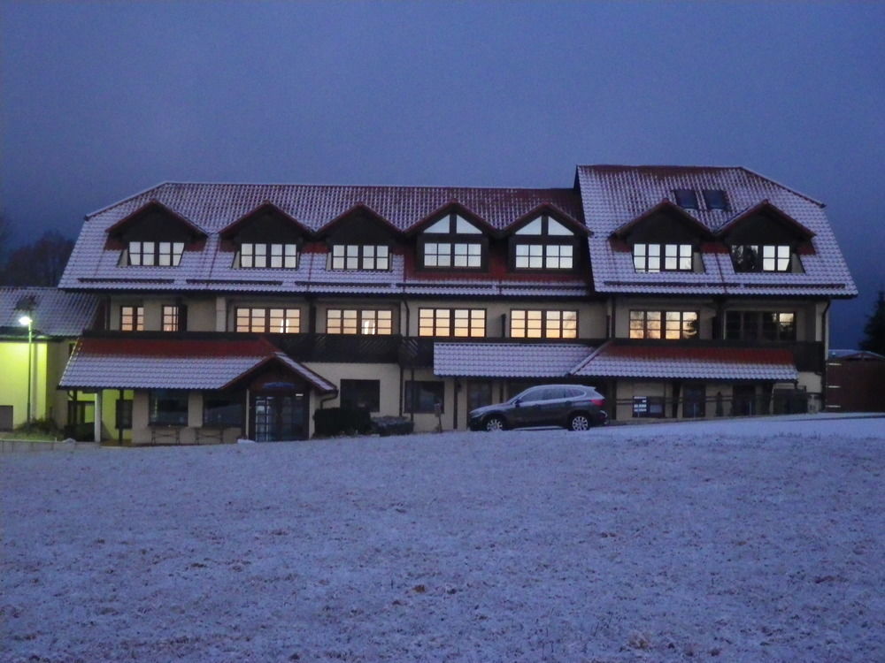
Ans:
[[[225,389],[271,365],[319,392],[335,385],[265,339],[80,339],[58,386],[62,389]]]

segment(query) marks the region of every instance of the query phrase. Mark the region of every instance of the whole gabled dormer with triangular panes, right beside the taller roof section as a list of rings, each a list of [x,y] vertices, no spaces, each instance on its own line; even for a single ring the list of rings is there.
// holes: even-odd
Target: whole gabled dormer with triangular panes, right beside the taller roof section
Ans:
[[[541,205],[510,228],[512,271],[573,271],[587,227],[550,205]]]

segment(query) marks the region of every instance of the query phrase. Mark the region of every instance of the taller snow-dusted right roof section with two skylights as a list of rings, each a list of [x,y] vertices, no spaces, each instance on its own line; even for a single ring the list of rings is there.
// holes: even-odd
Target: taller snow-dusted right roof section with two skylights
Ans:
[[[600,293],[769,294],[849,297],[858,293],[820,202],[742,167],[581,165],[584,222],[593,283]],[[618,250],[612,233],[641,217],[674,189],[725,191],[728,210],[684,210],[711,232],[767,201],[812,232],[813,253],[801,255],[804,273],[736,272],[727,252],[704,252],[702,272],[636,272],[633,255]],[[700,198],[700,196],[698,196]]]

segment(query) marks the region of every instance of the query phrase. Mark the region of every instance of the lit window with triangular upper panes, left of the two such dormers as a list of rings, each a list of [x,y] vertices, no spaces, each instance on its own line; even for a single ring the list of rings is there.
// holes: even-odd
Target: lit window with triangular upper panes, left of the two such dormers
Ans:
[[[457,212],[427,226],[419,238],[422,267],[480,270],[485,265],[488,240],[482,231]]]

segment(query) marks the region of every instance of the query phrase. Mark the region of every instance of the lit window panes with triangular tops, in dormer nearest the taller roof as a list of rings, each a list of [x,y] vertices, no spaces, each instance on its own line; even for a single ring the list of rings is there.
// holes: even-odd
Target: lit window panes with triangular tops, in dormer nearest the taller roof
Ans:
[[[571,270],[575,245],[574,232],[544,214],[513,233],[511,263],[515,270]]]

